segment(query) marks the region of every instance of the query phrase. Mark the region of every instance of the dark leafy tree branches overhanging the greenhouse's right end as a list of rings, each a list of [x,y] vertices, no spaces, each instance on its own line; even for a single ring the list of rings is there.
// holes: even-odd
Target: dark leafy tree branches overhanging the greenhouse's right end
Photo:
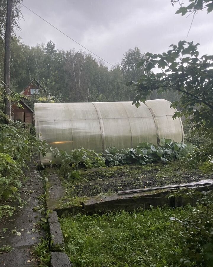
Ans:
[[[181,9],[183,10],[183,9]],[[188,117],[193,124],[193,133],[207,138],[213,136],[213,55],[199,58],[199,43],[180,41],[170,45],[171,49],[162,54],[146,53],[142,63],[157,67],[159,73],[142,75],[136,84],[137,96],[132,104],[140,106],[151,93],[168,90],[180,94],[179,101],[173,101],[171,107],[178,108],[173,118]]]

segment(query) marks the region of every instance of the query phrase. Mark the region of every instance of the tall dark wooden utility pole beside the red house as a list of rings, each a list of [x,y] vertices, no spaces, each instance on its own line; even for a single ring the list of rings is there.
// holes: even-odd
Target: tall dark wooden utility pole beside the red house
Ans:
[[[5,114],[11,116],[10,105],[10,37],[12,26],[12,2],[13,0],[7,0],[7,19],[5,28],[5,50],[4,50],[4,89],[5,89]]]

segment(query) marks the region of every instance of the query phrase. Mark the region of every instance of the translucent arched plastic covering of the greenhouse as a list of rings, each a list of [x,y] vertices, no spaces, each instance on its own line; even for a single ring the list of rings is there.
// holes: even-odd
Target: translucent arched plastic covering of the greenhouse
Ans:
[[[35,103],[38,138],[70,152],[84,147],[104,152],[135,147],[140,142],[159,144],[162,137],[183,141],[181,120],[172,119],[175,109],[164,99],[149,100],[139,108],[132,102]],[[40,163],[55,161],[51,152]],[[59,159],[57,159],[59,160]]]

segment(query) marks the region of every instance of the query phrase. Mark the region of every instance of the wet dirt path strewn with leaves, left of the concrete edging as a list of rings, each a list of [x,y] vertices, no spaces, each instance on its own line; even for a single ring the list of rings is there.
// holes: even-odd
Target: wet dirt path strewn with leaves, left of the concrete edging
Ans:
[[[21,198],[26,204],[17,203],[16,211],[11,217],[0,219],[0,247],[9,245],[14,249],[11,252],[0,253],[1,266],[38,266],[38,260],[33,256],[33,246],[40,242],[40,237],[45,236],[44,230],[38,225],[42,215],[33,208],[41,205],[38,196],[44,194],[43,180],[38,176],[39,171],[30,163],[30,177],[21,188]],[[4,230],[3,230],[4,229]]]

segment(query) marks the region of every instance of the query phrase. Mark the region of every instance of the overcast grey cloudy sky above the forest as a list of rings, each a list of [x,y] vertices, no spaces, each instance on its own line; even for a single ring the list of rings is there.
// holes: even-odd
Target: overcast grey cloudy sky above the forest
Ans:
[[[142,53],[162,53],[180,40],[199,42],[200,54],[213,54],[213,12],[199,12],[187,38],[192,17],[175,15],[178,5],[172,7],[170,0],[23,0],[23,4],[112,64],[135,46]],[[25,7],[21,10],[24,20],[17,35],[25,44],[51,40],[57,49],[81,49]]]

